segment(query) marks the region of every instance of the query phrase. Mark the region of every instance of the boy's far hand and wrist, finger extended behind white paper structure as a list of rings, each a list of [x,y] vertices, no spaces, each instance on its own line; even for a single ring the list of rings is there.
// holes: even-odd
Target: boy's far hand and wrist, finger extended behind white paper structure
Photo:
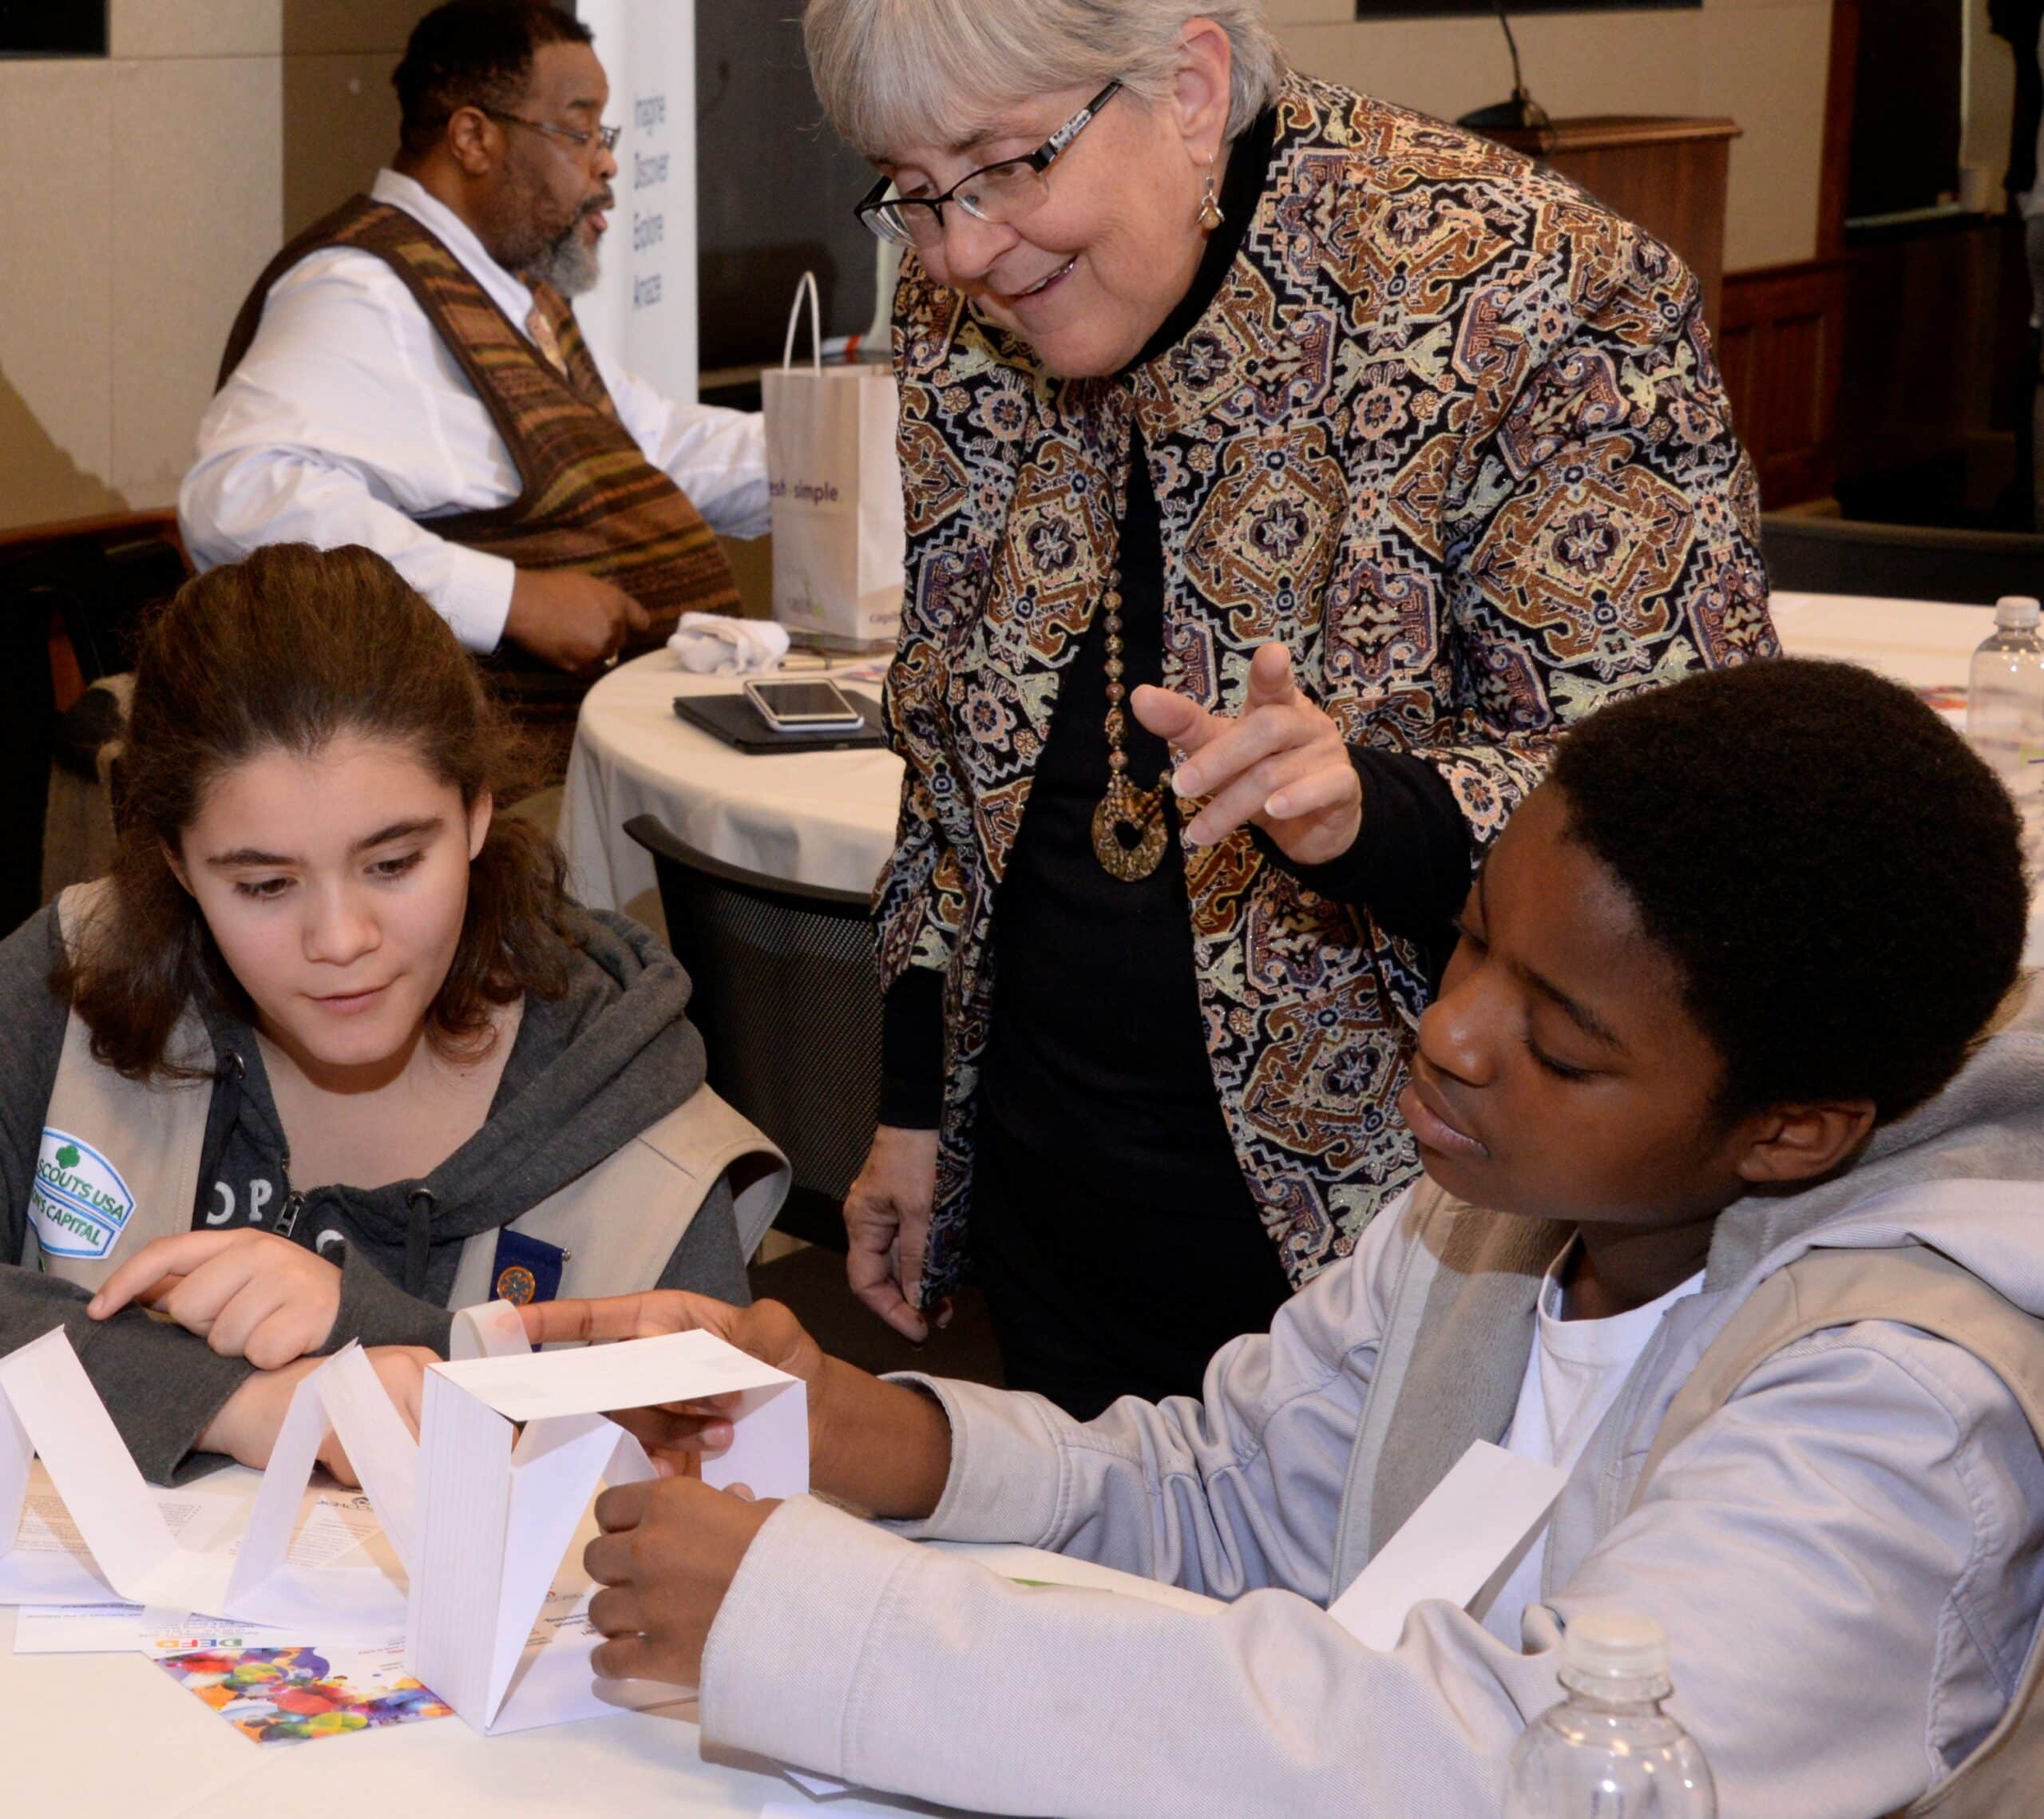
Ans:
[[[652,1339],[715,1333],[777,1371],[801,1378],[809,1400],[809,1484],[877,1517],[928,1517],[950,1478],[950,1422],[920,1390],[883,1384],[826,1357],[779,1302],[734,1308],[681,1290],[646,1290],[601,1302],[529,1302],[519,1308],[533,1345],[558,1339]],[[654,1467],[697,1476],[705,1451],[732,1443],[736,1396],[611,1410]]]

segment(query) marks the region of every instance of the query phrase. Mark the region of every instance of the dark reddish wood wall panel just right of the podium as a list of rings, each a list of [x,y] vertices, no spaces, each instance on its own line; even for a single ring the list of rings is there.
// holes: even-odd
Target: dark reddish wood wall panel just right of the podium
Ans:
[[[1848,274],[1807,260],[1725,280],[1717,360],[1768,509],[1823,499],[1838,476]]]

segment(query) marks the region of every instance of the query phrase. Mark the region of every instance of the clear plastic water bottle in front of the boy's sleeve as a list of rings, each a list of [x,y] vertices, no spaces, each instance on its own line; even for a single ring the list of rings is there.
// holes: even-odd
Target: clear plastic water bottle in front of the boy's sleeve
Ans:
[[[1588,1613],[1562,1637],[1568,1698],[1513,1750],[1504,1819],[1717,1819],[1703,1752],[1662,1700],[1668,1633],[1652,1617]]]

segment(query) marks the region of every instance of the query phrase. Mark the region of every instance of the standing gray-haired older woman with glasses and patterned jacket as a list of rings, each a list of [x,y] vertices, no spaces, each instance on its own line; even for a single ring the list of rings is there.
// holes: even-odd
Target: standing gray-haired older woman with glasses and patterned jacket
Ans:
[[[1551,738],[1774,650],[1682,264],[1288,74],[1257,0],[807,0],[895,305],[908,760],[852,1288],[1196,1390],[1414,1173],[1392,1104]],[[1443,1138],[1445,1140],[1445,1138]]]

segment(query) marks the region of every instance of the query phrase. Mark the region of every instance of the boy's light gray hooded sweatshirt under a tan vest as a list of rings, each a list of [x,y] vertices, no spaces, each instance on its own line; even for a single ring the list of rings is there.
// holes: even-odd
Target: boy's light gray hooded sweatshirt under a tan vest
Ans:
[[[1856,1167],[1719,1216],[1703,1292],[1570,1474],[1521,1647],[1429,1602],[1378,1651],[1325,1611],[1361,1564],[1339,1537],[1396,1488],[1378,1414],[1449,1237],[1500,1218],[1394,1204],[1271,1333],[1222,1347],[1200,1398],[1081,1425],[928,1386],[950,1480],[912,1533],[1053,1547],[1224,1611],[1016,1586],[793,1498],[709,1633],[705,1737],[983,1813],[1494,1819],[1513,1743],[1562,1696],[1562,1631],[1617,1608],[1666,1625],[1723,1819],[1907,1807],[1995,1723],[2044,1608],[2044,1457],[2001,1378],[1891,1320],[1815,1333],[1631,1498],[1705,1347],[1805,1251],[1921,1243],[2044,1318],[2044,991]],[[1466,1343],[1468,1384],[1517,1384],[1531,1328]],[[1421,1410],[1443,1429],[1492,1406],[1445,1388]]]

